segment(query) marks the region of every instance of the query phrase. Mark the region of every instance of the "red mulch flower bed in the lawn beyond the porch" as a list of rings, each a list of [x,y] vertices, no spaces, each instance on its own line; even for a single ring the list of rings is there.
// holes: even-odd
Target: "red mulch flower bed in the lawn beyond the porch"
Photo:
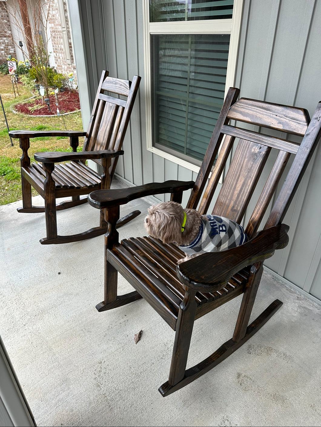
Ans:
[[[60,114],[69,113],[71,111],[80,110],[79,94],[78,92],[71,92],[65,90],[64,92],[59,92],[58,96],[58,108]],[[45,97],[44,97],[45,98]],[[55,116],[57,114],[57,105],[55,95],[49,95],[50,99],[50,111],[47,107],[47,104],[42,103],[42,99],[30,99],[29,102],[15,105],[15,111],[19,113],[29,114],[29,116]],[[33,109],[35,105],[42,105],[41,108]],[[30,110],[31,107],[32,109]]]

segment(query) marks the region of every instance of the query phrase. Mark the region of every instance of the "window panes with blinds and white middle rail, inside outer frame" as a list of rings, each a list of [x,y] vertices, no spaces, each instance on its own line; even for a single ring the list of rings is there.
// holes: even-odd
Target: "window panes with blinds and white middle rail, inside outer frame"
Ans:
[[[158,152],[203,160],[224,102],[232,14],[233,0],[149,0],[151,146]]]

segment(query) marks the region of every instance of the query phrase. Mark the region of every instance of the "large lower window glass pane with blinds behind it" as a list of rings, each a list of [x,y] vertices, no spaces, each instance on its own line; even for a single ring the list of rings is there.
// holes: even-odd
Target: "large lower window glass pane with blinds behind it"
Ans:
[[[224,102],[230,35],[151,35],[153,141],[202,160]]]

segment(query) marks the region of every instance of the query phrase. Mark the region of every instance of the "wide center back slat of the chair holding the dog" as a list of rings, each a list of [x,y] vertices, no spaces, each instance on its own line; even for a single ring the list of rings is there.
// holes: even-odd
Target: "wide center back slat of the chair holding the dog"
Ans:
[[[265,145],[240,140],[212,214],[241,222],[271,151]]]

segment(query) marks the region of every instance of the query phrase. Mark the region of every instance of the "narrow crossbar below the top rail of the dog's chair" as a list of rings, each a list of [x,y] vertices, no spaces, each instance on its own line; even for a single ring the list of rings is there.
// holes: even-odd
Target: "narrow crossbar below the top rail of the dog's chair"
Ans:
[[[247,129],[241,129],[234,126],[224,125],[222,127],[222,132],[226,135],[235,136],[237,138],[256,142],[258,144],[264,144],[268,147],[287,151],[293,154],[297,153],[297,150],[300,146],[300,144],[298,143],[290,142],[282,138],[272,137],[269,135],[260,134],[258,132],[250,131]]]

